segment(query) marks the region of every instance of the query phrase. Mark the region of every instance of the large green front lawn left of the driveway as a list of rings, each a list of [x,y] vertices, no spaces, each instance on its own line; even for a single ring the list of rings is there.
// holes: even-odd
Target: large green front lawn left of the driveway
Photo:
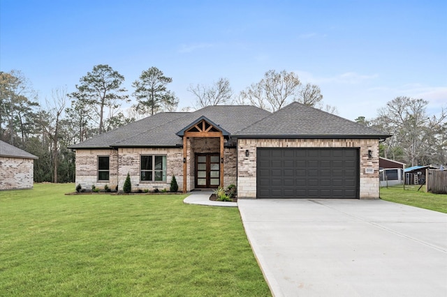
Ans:
[[[237,208],[0,192],[0,296],[271,296]]]

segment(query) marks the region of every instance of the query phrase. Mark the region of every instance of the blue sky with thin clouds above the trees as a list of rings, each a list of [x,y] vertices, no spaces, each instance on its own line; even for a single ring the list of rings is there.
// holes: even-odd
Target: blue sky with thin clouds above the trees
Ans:
[[[447,1],[0,0],[0,70],[21,70],[39,93],[75,91],[108,64],[125,86],[155,66],[190,84],[226,77],[235,93],[274,69],[318,84],[339,116],[371,119],[397,96],[447,106]]]

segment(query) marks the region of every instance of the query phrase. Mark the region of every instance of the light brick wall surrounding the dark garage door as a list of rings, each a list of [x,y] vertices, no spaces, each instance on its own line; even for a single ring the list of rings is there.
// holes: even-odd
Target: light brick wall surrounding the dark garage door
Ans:
[[[256,148],[360,148],[360,199],[379,198],[379,139],[238,139],[237,195],[256,198]],[[245,150],[249,150],[249,157]],[[372,158],[368,158],[368,150]],[[374,173],[366,174],[372,168]]]

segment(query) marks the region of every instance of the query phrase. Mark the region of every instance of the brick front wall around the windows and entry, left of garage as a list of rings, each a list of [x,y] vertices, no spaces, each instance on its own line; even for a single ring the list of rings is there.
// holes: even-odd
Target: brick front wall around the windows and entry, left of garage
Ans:
[[[208,138],[206,145],[204,138],[193,138],[188,140],[187,166],[189,167],[186,178],[186,189],[194,188],[195,153],[219,153],[219,139]],[[98,156],[108,155],[110,157],[110,179],[109,181],[98,181]],[[140,181],[140,155],[166,155],[166,182]],[[224,148],[223,157],[223,183],[224,186],[236,183],[237,167],[236,148]],[[119,164],[119,166],[118,166]],[[183,148],[119,148],[113,149],[77,149],[76,150],[76,185],[82,188],[110,188],[122,190],[127,173],[131,176],[132,189],[166,188],[169,190],[173,174],[179,185],[183,188]]]

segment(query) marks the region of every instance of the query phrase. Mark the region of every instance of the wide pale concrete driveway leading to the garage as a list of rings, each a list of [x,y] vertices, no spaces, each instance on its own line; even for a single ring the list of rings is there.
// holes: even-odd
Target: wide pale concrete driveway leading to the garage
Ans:
[[[447,296],[447,214],[382,200],[240,199],[274,296]]]

